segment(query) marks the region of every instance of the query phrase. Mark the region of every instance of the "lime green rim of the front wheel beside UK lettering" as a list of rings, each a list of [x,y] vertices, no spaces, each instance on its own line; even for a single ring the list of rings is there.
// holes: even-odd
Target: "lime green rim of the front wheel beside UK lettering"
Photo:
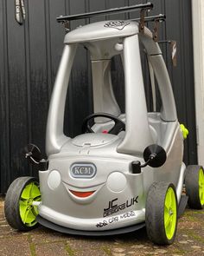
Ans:
[[[168,240],[171,240],[175,234],[176,212],[175,191],[169,187],[164,201],[164,229]]]

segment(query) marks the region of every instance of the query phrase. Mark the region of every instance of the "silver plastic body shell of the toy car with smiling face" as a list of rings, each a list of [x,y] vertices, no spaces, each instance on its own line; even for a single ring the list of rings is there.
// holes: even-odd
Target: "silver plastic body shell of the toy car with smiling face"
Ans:
[[[54,84],[48,113],[46,149],[48,170],[40,172],[41,217],[78,230],[107,230],[144,221],[146,194],[154,181],[172,182],[178,201],[182,194],[185,165],[183,138],[177,121],[169,75],[150,30],[139,34],[138,24],[119,22],[88,24],[65,37],[65,49]],[[147,113],[139,54],[143,43],[156,75],[163,101],[161,113]],[[64,108],[70,71],[77,45],[90,51],[94,112],[118,116],[125,132],[105,135],[112,121],[99,118],[94,134],[73,139],[63,134]],[[120,55],[124,65],[125,114],[112,90],[110,61]],[[143,150],[150,144],[167,152],[163,167],[144,167],[132,174],[131,162],[143,162]],[[79,193],[92,193],[79,197]]]

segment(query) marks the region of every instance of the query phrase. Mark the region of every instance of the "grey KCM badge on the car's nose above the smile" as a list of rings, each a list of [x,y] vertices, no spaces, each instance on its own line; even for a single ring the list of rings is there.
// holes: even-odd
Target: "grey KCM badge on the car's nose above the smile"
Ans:
[[[92,163],[74,163],[70,174],[73,178],[92,179],[96,174],[96,167]]]

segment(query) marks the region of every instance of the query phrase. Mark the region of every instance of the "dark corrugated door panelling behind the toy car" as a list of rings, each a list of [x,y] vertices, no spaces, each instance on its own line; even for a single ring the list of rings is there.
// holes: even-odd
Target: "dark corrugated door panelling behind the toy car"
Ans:
[[[55,17],[92,10],[145,3],[127,0],[27,0],[26,20],[22,25],[15,20],[15,1],[0,1],[0,193],[5,193],[10,182],[21,175],[37,173],[22,157],[22,148],[32,141],[44,150],[48,102],[56,70],[63,49],[64,29]],[[178,65],[172,68],[169,46],[163,52],[173,82],[179,120],[185,123],[190,135],[186,141],[185,160],[196,162],[194,122],[194,73],[190,0],[153,0],[153,14],[165,13],[167,21],[160,30],[160,39],[177,41]],[[131,13],[131,16],[135,15]],[[137,14],[138,16],[138,14]],[[101,16],[99,19],[122,19],[128,15]],[[82,20],[72,27],[88,23]],[[120,83],[118,61],[113,63],[114,83]],[[69,88],[69,103],[65,123],[66,133],[80,133],[83,117],[92,112],[92,89],[86,51],[81,49],[74,63]],[[120,88],[120,87],[118,87]],[[118,99],[123,89],[116,89]],[[86,99],[86,101],[85,101]],[[123,106],[123,101],[120,102]]]

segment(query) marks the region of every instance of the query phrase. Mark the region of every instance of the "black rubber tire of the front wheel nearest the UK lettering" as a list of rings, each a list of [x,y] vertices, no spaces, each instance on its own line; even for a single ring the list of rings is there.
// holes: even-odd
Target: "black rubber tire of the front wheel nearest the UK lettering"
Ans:
[[[174,233],[170,239],[164,226],[165,198],[169,187],[174,191],[176,209]],[[177,229],[177,197],[173,184],[161,181],[154,182],[150,186],[146,200],[145,222],[148,237],[153,243],[157,245],[171,245],[174,242]]]

